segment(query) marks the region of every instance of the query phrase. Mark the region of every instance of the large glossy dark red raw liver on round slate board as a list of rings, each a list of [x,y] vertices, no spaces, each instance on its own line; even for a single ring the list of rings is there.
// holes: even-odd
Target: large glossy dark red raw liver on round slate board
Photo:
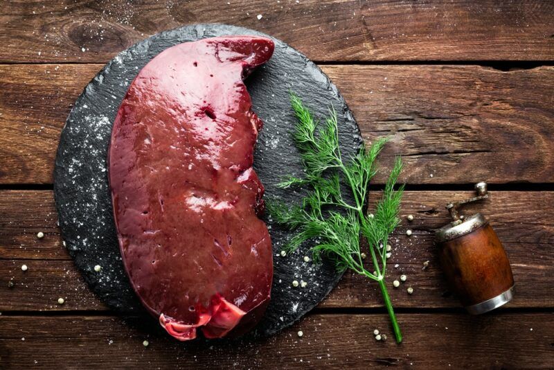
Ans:
[[[144,306],[179,340],[248,331],[269,303],[271,240],[252,168],[262,122],[242,78],[265,37],[173,46],[119,108],[109,180],[123,262]]]

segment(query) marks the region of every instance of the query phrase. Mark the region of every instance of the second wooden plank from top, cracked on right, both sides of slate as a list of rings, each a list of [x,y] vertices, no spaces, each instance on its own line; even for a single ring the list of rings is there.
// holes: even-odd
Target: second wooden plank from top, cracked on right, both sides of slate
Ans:
[[[0,183],[48,184],[60,130],[99,64],[0,65]],[[366,141],[409,184],[554,181],[554,67],[323,66]],[[384,173],[375,182],[382,183]]]

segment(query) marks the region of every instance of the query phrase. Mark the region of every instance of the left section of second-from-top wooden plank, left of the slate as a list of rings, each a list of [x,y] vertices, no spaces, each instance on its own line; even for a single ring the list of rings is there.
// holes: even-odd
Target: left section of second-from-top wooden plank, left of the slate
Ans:
[[[60,132],[100,66],[0,66],[0,183],[52,183]]]

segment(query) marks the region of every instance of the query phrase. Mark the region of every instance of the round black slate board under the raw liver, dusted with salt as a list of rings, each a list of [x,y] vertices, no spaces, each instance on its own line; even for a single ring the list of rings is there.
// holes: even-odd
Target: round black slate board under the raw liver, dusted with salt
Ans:
[[[154,56],[175,44],[222,35],[262,35],[247,28],[198,24],[168,30],[121,52],[96,75],[77,99],[67,118],[57,149],[54,195],[65,245],[90,288],[120,312],[143,314],[127,279],[118,247],[107,180],[106,155],[111,125],[127,88]],[[298,202],[302,191],[275,186],[285,175],[302,174],[301,160],[292,142],[295,118],[289,91],[295,91],[315,116],[337,111],[339,142],[345,157],[363,144],[352,113],[337,88],[313,62],[274,39],[271,60],[246,81],[253,110],[265,125],[258,137],[254,168],[265,186],[265,197]],[[314,308],[337,284],[341,274],[330,263],[305,263],[309,246],[286,257],[278,255],[290,235],[265,220],[274,250],[274,283],[264,319],[250,336],[268,336],[290,326]],[[94,266],[100,265],[100,272]],[[307,282],[292,288],[293,280]]]

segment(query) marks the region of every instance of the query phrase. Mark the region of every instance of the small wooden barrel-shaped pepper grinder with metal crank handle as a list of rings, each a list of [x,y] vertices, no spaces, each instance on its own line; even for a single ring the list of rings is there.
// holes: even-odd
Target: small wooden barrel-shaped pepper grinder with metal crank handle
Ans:
[[[514,277],[508,256],[488,220],[476,213],[460,214],[463,204],[489,197],[487,184],[475,185],[476,197],[447,204],[453,221],[436,231],[440,263],[451,288],[472,315],[508,303]]]

